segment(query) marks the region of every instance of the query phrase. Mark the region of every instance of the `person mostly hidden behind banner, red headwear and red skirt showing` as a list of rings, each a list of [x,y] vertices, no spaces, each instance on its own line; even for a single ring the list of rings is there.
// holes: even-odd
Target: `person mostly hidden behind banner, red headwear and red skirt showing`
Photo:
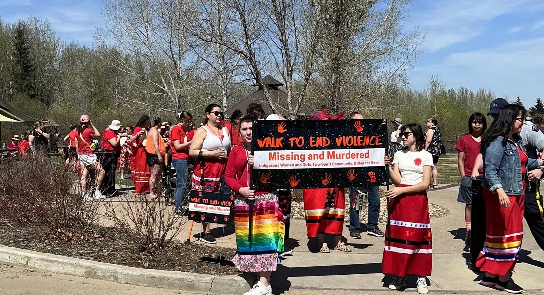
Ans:
[[[315,112],[311,120],[342,119],[344,113],[331,116],[326,109]],[[320,252],[330,253],[329,245],[325,243],[325,235],[334,237],[333,250],[351,252],[343,242],[344,228],[344,189],[343,188],[307,188],[302,189],[304,216],[308,238],[318,238]]]

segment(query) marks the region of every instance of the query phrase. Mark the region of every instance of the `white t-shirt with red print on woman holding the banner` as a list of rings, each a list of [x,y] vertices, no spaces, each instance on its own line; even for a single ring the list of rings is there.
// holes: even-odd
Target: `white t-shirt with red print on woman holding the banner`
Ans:
[[[432,155],[425,150],[418,152],[402,150],[395,152],[393,164],[399,165],[400,183],[413,186],[423,181],[423,166],[433,165]]]

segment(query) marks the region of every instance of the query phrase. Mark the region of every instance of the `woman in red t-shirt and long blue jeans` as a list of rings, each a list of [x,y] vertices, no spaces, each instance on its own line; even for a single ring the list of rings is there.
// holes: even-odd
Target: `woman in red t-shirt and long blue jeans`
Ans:
[[[178,123],[170,130],[172,151],[172,166],[176,169],[176,213],[181,214],[181,204],[185,198],[185,187],[189,167],[189,146],[195,131],[193,129],[193,115],[181,112]]]

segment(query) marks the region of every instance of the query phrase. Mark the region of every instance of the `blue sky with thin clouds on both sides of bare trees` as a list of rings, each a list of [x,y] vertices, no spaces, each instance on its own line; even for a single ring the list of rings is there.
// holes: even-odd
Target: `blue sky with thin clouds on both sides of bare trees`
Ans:
[[[101,0],[0,0],[0,16],[47,17],[64,40],[92,46],[101,7]],[[436,75],[449,88],[484,87],[511,101],[520,95],[527,106],[544,98],[544,1],[413,0],[408,9],[406,29],[425,33],[412,88]]]

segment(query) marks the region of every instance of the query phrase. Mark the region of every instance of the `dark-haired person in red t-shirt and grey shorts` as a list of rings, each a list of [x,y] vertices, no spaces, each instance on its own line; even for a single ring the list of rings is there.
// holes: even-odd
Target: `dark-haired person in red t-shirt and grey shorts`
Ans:
[[[465,204],[465,225],[467,233],[465,236],[465,245],[471,244],[471,228],[472,228],[472,169],[476,157],[480,153],[481,136],[487,128],[485,116],[482,113],[474,113],[468,119],[468,134],[461,137],[455,149],[459,151],[457,157],[457,165],[459,174],[461,175],[461,184],[459,186],[459,194],[457,201]],[[479,171],[480,175],[483,170]]]

